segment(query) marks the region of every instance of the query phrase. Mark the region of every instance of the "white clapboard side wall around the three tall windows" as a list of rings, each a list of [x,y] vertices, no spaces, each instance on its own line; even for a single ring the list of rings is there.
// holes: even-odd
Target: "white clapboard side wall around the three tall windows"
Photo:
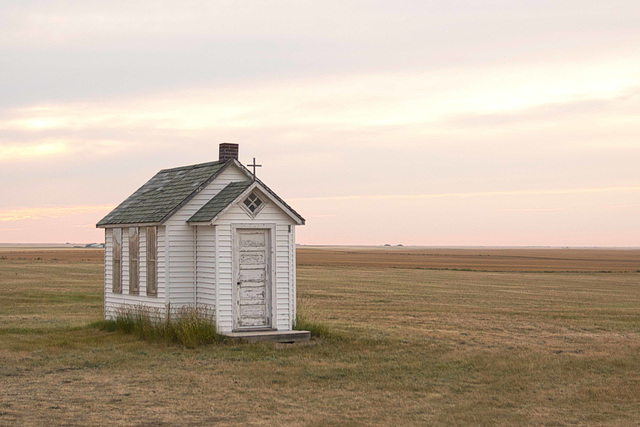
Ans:
[[[162,238],[161,238],[162,235]],[[140,294],[129,295],[129,247],[122,245],[122,293],[113,293],[113,229],[105,230],[105,294],[104,294],[104,314],[106,319],[113,319],[119,309],[145,305],[161,313],[165,309],[164,280],[162,269],[164,268],[164,227],[158,227],[158,296],[146,295],[146,230],[140,229],[139,242],[140,256]],[[125,277],[126,276],[126,277]]]

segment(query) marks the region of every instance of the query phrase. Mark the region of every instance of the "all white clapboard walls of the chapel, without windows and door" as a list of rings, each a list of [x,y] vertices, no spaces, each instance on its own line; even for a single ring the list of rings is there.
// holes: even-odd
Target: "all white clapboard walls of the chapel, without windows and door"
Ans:
[[[158,295],[146,295],[146,233],[140,228],[140,295],[129,295],[128,240],[122,245],[122,294],[112,292],[112,232],[105,234],[105,317],[117,307],[146,304],[164,310],[199,306],[215,310],[220,332],[233,329],[233,236],[231,224],[275,225],[275,292],[273,327],[291,330],[295,320],[295,222],[271,201],[251,218],[239,206],[231,207],[213,226],[192,226],[187,220],[230,182],[247,176],[229,167],[192,200],[158,227]],[[264,197],[263,199],[266,199]],[[291,232],[289,231],[291,226]],[[124,239],[123,239],[124,240]],[[170,251],[168,257],[165,257]],[[217,256],[216,256],[217,254]],[[166,284],[170,283],[170,288]],[[216,307],[217,303],[217,307]]]

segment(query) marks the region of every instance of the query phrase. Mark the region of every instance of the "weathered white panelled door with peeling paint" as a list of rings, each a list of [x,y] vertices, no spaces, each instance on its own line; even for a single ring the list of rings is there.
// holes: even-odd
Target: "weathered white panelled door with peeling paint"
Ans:
[[[235,249],[235,327],[270,328],[269,230],[237,230]]]

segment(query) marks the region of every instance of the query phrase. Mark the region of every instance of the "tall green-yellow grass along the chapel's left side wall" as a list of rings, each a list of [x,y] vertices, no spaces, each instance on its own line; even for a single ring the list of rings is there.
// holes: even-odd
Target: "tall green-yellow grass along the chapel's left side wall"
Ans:
[[[167,315],[144,306],[122,307],[115,319],[101,320],[94,327],[110,332],[134,334],[147,341],[181,344],[187,348],[221,342],[224,336],[216,332],[213,312],[203,308],[182,307]]]

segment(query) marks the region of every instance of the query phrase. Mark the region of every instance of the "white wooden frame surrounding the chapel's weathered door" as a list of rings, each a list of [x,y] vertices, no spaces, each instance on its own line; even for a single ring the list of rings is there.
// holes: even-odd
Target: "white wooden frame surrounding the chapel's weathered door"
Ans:
[[[240,250],[239,250],[239,230],[265,230],[267,231],[267,279],[269,283],[267,287],[267,316],[269,318],[267,326],[261,327],[238,327],[238,272],[240,267]],[[232,317],[233,317],[233,330],[234,331],[249,331],[249,330],[271,330],[276,329],[276,225],[272,223],[238,223],[231,224],[231,243],[233,248],[233,265],[232,265]]]

